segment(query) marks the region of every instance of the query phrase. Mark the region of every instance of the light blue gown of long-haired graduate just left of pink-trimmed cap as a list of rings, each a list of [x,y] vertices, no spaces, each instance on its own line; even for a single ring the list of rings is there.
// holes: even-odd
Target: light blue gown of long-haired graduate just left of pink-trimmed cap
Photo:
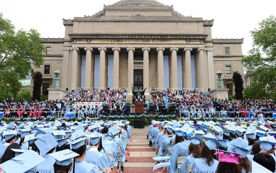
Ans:
[[[213,165],[209,166],[206,163],[206,159],[195,159],[191,168],[191,173],[215,173],[219,161],[213,159]]]

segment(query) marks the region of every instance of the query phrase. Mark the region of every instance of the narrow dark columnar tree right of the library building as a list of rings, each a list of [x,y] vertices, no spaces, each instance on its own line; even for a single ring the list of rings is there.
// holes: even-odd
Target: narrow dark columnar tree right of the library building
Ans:
[[[235,85],[235,99],[243,99],[242,91],[244,90],[242,75],[238,71],[233,72],[233,81]]]

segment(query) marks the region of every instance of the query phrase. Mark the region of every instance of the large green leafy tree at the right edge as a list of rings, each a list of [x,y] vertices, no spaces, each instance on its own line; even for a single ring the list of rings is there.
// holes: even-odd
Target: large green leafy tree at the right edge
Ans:
[[[267,87],[271,98],[276,98],[276,17],[270,16],[251,31],[253,48],[242,58],[252,82],[244,90],[245,98],[267,98]]]

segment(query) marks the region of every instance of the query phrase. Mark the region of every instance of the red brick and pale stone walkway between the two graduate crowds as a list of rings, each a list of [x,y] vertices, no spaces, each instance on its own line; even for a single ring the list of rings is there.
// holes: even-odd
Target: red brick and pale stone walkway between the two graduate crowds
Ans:
[[[145,129],[133,129],[135,132],[145,131]],[[132,136],[130,145],[127,146],[130,151],[130,156],[127,156],[127,162],[124,164],[123,173],[156,173],[162,169],[152,170],[157,161],[153,160],[152,157],[156,157],[155,149],[149,147],[149,140],[145,136]]]

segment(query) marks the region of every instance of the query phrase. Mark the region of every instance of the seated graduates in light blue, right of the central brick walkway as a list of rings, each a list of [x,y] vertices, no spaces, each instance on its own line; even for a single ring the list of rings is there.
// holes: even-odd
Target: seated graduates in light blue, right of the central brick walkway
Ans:
[[[148,137],[159,173],[275,172],[272,121],[152,121]]]

